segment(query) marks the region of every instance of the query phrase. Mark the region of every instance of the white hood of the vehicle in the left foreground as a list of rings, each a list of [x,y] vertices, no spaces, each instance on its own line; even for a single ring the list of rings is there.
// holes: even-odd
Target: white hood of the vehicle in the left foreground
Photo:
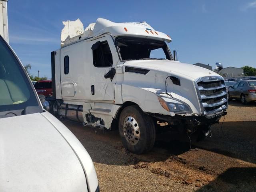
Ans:
[[[42,114],[0,119],[0,191],[87,191],[76,154]]]

